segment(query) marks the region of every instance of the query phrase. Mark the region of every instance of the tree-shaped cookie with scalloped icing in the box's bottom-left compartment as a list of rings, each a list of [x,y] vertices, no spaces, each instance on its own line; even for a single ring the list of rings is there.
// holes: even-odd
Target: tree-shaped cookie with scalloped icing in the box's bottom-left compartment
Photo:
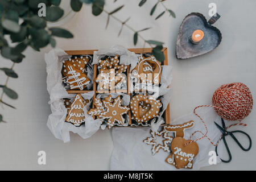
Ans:
[[[83,100],[81,94],[77,94],[71,104],[65,121],[70,122],[75,126],[80,126],[82,123],[85,122],[84,109],[85,101]]]

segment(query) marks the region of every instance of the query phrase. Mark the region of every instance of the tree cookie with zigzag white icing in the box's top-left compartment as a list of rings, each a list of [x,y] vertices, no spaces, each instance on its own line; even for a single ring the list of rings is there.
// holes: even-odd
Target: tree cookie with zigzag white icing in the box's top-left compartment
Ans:
[[[79,69],[76,69],[72,62],[66,63],[67,67],[67,83],[70,86],[70,89],[80,89],[84,90],[85,85],[89,84],[90,79],[86,76],[85,73],[82,73]]]

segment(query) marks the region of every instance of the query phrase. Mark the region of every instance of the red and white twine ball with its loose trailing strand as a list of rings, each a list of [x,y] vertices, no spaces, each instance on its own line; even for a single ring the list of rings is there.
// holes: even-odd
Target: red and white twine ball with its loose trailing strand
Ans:
[[[226,127],[226,129],[229,129],[230,127],[237,126],[237,125],[247,126],[245,123],[241,123],[241,121],[243,118],[249,115],[251,112],[251,109],[253,109],[253,97],[251,96],[251,92],[249,88],[245,84],[236,82],[233,84],[225,84],[220,86],[220,88],[218,88],[213,94],[212,104],[213,105],[197,106],[194,109],[193,113],[200,118],[201,122],[203,122],[206,132],[204,134],[201,131],[195,131],[194,133],[192,133],[189,140],[191,140],[193,135],[195,135],[196,133],[201,133],[203,136],[201,138],[191,140],[185,143],[185,145],[188,145],[189,143],[192,143],[192,142],[196,142],[203,138],[207,138],[213,146],[217,146],[222,137],[221,135],[220,139],[218,139],[216,144],[212,142],[212,140],[207,136],[208,134],[207,125],[205,124],[204,120],[200,117],[200,115],[196,114],[197,108],[213,107],[214,110],[217,112],[217,114],[220,115],[222,118],[229,121],[238,120],[238,123],[229,125],[228,127]]]

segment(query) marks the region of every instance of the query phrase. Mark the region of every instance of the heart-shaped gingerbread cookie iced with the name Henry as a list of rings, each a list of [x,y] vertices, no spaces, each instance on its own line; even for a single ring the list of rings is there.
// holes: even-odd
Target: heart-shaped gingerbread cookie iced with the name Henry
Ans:
[[[189,143],[191,140],[185,140],[182,137],[172,139],[171,150],[172,154],[168,156],[166,162],[174,165],[177,169],[192,168],[193,159],[198,154],[199,147],[196,142]]]

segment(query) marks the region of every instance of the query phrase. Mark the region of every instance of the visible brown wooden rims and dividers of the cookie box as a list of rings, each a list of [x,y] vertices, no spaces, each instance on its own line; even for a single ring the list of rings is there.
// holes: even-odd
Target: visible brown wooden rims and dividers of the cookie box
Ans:
[[[128,50],[131,52],[137,53],[137,54],[152,52],[152,48],[131,48]],[[65,51],[65,52],[68,55],[93,55],[94,51],[98,51],[98,50],[94,49],[94,50]],[[167,55],[168,49],[166,47],[163,48],[163,52],[164,52],[165,59],[162,62],[162,65],[168,65],[168,55]],[[131,96],[129,73],[130,73],[130,67],[127,68],[127,90],[115,90],[115,92],[119,91],[122,93],[127,93],[127,94],[129,94],[129,96]],[[97,83],[95,81],[96,78],[97,78],[97,65],[94,64],[94,67],[93,67],[93,91],[94,91],[93,99],[96,98],[97,93],[102,93],[97,90]],[[90,92],[90,91],[92,91],[92,90],[67,90],[68,93],[86,93],[86,92]],[[129,127],[133,127],[133,126],[130,126],[131,125],[131,111],[129,111],[128,114],[129,114],[129,118],[130,118]],[[166,122],[166,123],[164,123],[164,125],[170,125],[170,104],[168,104],[167,109],[164,111],[163,117],[164,117],[164,121]],[[141,125],[139,125],[139,126],[141,126]]]

